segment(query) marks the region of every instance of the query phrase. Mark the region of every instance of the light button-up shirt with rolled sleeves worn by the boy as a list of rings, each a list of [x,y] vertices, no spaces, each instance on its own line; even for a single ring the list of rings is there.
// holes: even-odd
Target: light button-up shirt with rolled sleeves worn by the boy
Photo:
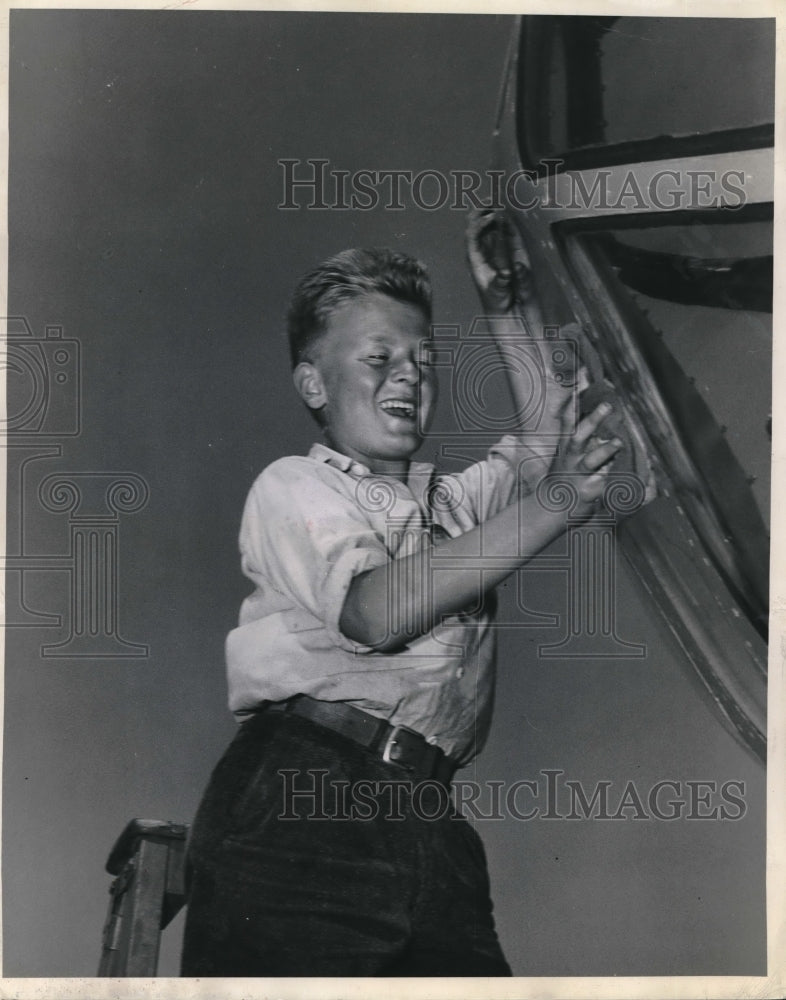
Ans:
[[[508,435],[459,473],[437,475],[413,462],[406,484],[321,444],[308,457],[268,466],[240,529],[242,568],[255,590],[226,645],[237,718],[262,701],[307,694],[407,726],[469,761],[485,742],[494,689],[494,629],[480,571],[476,609],[445,618],[395,653],[353,642],[339,620],[359,573],[385,565],[395,572],[396,560],[416,551],[424,572],[450,572],[439,569],[440,539],[510,504],[526,485],[527,457],[532,451]]]

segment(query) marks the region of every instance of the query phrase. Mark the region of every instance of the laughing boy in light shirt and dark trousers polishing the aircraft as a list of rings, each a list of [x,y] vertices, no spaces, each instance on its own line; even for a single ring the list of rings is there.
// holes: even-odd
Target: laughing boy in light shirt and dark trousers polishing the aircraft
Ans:
[[[473,219],[470,261],[500,311],[513,279],[480,249],[494,222]],[[597,436],[602,404],[556,455],[508,435],[435,476],[412,461],[436,404],[430,321],[426,272],[390,251],[339,254],[295,292],[294,382],[326,443],[274,462],[246,504],[256,589],[227,641],[245,721],[194,824],[184,975],[510,975],[448,792],[491,713],[483,598],[564,530],[540,477],[570,477],[589,516],[621,442]],[[566,424],[571,397],[552,381],[547,420]]]

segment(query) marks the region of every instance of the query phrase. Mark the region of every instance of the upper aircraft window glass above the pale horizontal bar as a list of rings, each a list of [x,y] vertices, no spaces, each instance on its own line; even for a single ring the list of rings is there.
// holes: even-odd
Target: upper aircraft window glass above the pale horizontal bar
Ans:
[[[527,18],[522,159],[532,165],[598,146],[750,134],[773,121],[774,80],[772,19]]]

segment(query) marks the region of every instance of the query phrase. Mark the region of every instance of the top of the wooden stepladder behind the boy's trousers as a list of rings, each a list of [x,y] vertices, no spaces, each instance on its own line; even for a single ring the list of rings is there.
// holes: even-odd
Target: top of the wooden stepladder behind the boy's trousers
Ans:
[[[132,819],[118,837],[99,976],[156,975],[161,931],[185,903],[187,835],[183,823]]]

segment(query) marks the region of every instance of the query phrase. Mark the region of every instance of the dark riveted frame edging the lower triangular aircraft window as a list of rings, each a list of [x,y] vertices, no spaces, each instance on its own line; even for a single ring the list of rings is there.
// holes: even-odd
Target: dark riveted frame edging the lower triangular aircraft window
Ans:
[[[679,217],[679,218],[678,218]],[[680,500],[698,535],[730,591],[747,617],[766,638],[769,535],[753,499],[746,475],[734,457],[723,431],[699,394],[690,373],[671,354],[657,328],[637,305],[631,290],[614,273],[593,234],[621,228],[673,226],[698,220],[712,224],[730,221],[745,224],[772,217],[772,205],[753,205],[734,213],[709,211],[657,212],[635,218],[570,220],[553,226],[552,233],[582,301],[597,324],[601,336],[594,342],[604,368],[616,370],[631,384],[637,399],[637,417],[658,447],[660,461],[675,484]],[[598,283],[602,294],[598,295]],[[658,355],[659,359],[654,356]],[[662,367],[663,356],[672,367]],[[676,367],[675,367],[676,366]],[[660,373],[660,374],[659,374]],[[634,385],[637,391],[633,391]],[[692,394],[684,408],[675,400]],[[699,411],[706,408],[706,414]],[[691,418],[709,420],[719,431],[716,445],[728,450],[718,474],[718,454],[702,455],[691,438]],[[706,426],[706,425],[705,425]],[[730,469],[733,470],[730,472]],[[722,483],[728,476],[728,482]],[[723,487],[726,487],[724,489]],[[763,576],[763,579],[762,579]]]

